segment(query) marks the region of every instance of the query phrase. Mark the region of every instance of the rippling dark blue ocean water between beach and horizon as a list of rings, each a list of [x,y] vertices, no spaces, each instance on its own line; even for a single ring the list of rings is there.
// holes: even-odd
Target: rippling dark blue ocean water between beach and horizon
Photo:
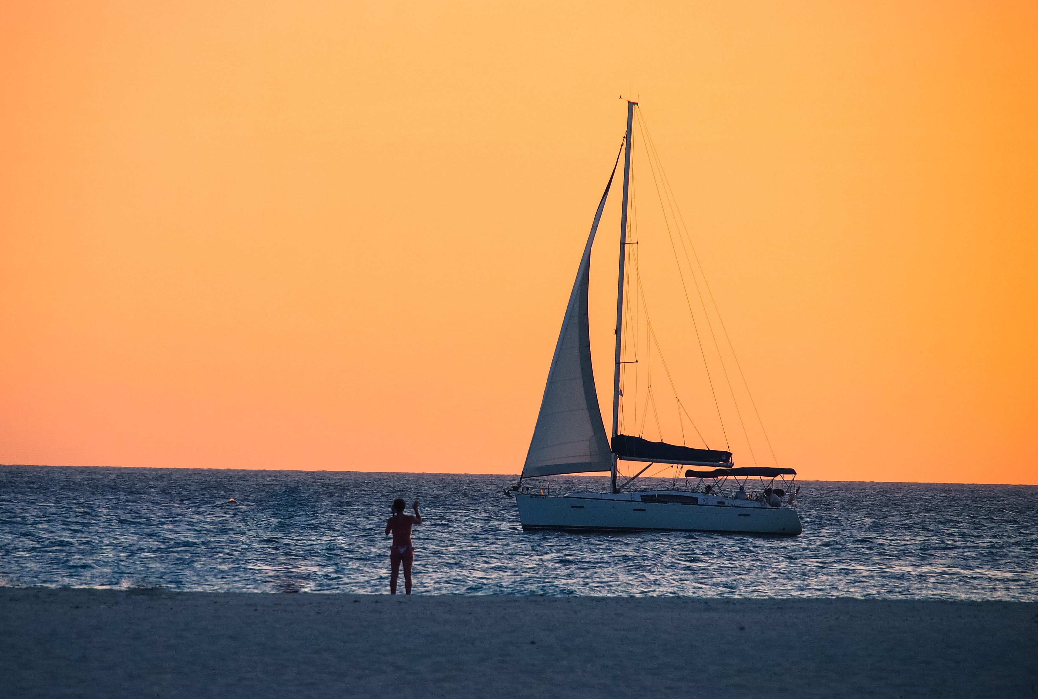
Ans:
[[[502,495],[514,482],[0,467],[0,585],[384,592],[385,519],[403,497],[426,519],[414,529],[418,594],[1038,600],[1038,486],[807,481],[803,534],[770,538],[524,533]]]

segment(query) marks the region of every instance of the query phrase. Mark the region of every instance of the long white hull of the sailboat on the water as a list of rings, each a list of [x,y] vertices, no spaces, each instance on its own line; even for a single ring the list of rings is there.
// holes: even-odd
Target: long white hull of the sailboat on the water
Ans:
[[[803,531],[791,507],[700,497],[699,504],[644,502],[651,494],[575,493],[565,497],[515,493],[523,531],[648,530],[731,532],[796,536]]]

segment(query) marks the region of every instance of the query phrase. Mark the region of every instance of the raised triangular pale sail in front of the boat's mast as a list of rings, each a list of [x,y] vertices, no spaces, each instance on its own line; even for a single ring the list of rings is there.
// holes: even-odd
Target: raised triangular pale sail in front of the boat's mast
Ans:
[[[619,160],[619,159],[618,159]],[[612,172],[616,174],[617,166]],[[598,407],[595,375],[591,367],[591,337],[588,329],[588,277],[591,248],[598,222],[612,185],[612,175],[595,213],[588,245],[577,270],[555,355],[551,358],[548,383],[544,387],[541,412],[529,442],[522,478],[561,473],[609,471],[612,454],[605,437],[605,424]]]

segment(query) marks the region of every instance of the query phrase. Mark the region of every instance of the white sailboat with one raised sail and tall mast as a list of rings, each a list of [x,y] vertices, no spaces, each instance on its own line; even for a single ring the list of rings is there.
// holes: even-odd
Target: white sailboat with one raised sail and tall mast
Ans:
[[[732,452],[652,442],[620,434],[621,365],[624,332],[624,264],[627,247],[631,172],[631,127],[636,102],[627,101],[624,138],[624,190],[620,220],[620,276],[617,289],[616,358],[612,386],[612,435],[606,439],[592,371],[588,314],[592,245],[616,175],[620,155],[592,223],[576,280],[563,317],[558,341],[519,483],[514,497],[524,531],[624,532],[646,530],[737,532],[795,536],[802,531],[793,507],[797,492],[789,468],[737,468]],[[646,464],[618,483],[618,463]],[[631,483],[653,465],[685,471],[670,487],[634,490]],[[703,467],[708,467],[703,470]],[[548,476],[609,472],[607,493],[555,495],[539,484]],[[530,480],[536,479],[536,480]],[[754,481],[760,492],[746,490]],[[783,485],[785,487],[778,487]],[[738,488],[738,490],[735,490]],[[788,499],[786,498],[789,491]]]

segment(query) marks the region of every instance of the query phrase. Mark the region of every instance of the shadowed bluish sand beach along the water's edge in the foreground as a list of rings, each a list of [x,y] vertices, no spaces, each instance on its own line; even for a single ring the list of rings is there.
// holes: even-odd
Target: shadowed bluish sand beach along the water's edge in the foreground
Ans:
[[[1038,697],[1036,683],[1031,603],[0,588],[5,697]]]

